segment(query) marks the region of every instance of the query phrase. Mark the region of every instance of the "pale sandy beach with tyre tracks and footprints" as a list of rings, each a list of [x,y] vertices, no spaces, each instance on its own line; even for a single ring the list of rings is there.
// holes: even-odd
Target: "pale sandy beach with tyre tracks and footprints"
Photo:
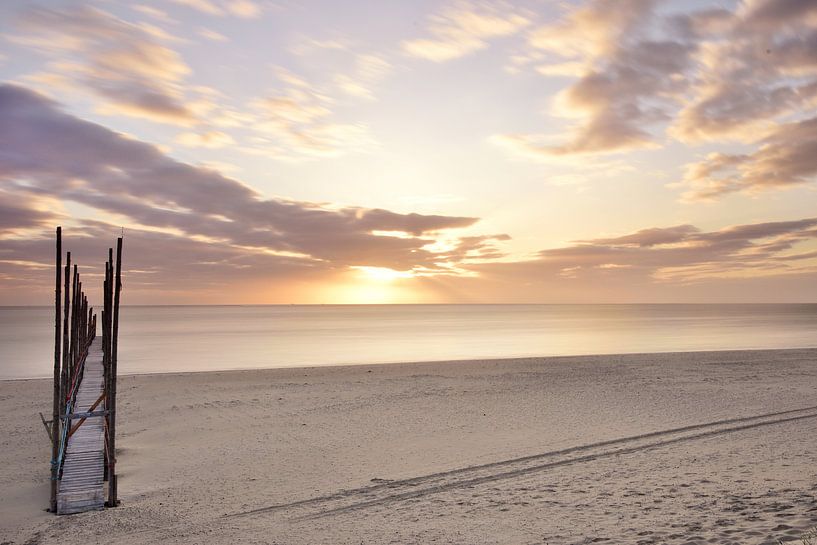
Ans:
[[[0,382],[0,543],[777,543],[817,525],[817,349],[120,378],[122,505],[56,517]]]

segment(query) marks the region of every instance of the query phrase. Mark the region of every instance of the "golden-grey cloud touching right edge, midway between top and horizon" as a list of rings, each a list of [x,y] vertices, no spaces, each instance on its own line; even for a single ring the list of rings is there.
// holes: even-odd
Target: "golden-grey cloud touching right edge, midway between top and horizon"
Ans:
[[[687,201],[711,201],[728,193],[756,194],[817,178],[817,117],[775,127],[752,153],[711,153],[686,166],[679,185]]]

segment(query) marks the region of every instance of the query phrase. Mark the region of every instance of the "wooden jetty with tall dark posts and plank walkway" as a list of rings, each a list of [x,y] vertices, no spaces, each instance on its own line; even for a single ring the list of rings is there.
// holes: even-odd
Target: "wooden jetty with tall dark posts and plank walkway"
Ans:
[[[117,239],[116,261],[113,259],[113,248],[108,249],[102,286],[101,336],[96,334],[97,315],[88,306],[76,264],[73,275],[71,273],[70,252],[67,253],[65,268],[62,267],[62,229],[58,227],[54,299],[54,407],[51,421],[46,422],[43,417],[43,423],[52,441],[50,511],[60,515],[119,504],[116,479],[116,368],[122,238]],[[64,299],[61,295],[64,295]]]

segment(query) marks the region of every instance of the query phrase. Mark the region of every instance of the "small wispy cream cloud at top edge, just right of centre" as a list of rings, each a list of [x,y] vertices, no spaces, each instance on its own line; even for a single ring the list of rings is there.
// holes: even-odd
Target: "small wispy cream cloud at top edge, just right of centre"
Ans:
[[[484,49],[488,40],[516,34],[529,24],[508,5],[459,2],[429,18],[430,38],[406,40],[402,47],[409,56],[445,62]]]

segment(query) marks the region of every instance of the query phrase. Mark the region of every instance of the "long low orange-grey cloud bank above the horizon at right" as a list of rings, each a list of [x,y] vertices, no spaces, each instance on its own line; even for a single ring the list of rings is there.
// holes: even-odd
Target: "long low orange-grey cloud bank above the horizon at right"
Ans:
[[[702,231],[692,225],[642,229],[542,250],[526,261],[465,265],[491,299],[550,302],[775,300],[817,295],[817,218]],[[467,280],[460,280],[461,284]],[[755,291],[758,286],[766,290]],[[783,290],[786,291],[786,290]],[[808,295],[807,295],[808,294]]]

